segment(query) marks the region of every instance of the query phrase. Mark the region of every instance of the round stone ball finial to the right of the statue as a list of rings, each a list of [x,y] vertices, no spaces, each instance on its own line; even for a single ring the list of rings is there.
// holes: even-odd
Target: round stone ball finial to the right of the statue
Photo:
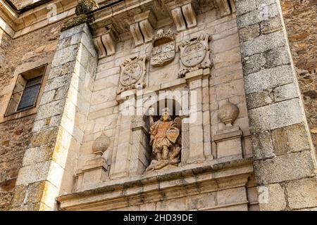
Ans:
[[[225,103],[218,110],[218,118],[221,122],[225,124],[226,127],[231,127],[233,122],[237,119],[240,113],[237,105],[233,103]]]

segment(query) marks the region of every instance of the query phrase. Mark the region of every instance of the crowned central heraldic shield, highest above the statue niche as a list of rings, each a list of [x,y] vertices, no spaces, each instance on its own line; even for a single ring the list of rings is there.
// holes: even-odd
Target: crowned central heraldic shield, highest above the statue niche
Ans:
[[[151,65],[162,66],[170,63],[175,58],[175,38],[169,29],[166,33],[159,30],[154,36],[151,51]]]

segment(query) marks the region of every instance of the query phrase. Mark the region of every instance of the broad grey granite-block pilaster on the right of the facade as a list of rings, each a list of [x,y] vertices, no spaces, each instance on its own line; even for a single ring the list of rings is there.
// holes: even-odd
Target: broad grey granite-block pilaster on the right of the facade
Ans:
[[[260,210],[316,207],[316,194],[306,194],[316,193],[316,156],[280,1],[235,5]]]

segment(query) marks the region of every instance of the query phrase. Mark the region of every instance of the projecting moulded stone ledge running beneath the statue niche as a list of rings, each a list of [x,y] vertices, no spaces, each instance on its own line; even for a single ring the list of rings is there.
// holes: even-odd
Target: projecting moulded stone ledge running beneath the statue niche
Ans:
[[[61,210],[249,210],[251,159],[187,165],[97,184],[58,197]],[[124,193],[124,195],[123,195]]]

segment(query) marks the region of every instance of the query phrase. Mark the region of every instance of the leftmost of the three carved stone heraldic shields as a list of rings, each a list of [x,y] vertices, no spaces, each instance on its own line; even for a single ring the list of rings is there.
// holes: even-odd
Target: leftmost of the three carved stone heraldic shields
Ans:
[[[147,72],[145,63],[147,56],[128,58],[120,65],[120,85],[117,94],[130,89],[136,89],[137,86],[144,88],[144,75]]]

